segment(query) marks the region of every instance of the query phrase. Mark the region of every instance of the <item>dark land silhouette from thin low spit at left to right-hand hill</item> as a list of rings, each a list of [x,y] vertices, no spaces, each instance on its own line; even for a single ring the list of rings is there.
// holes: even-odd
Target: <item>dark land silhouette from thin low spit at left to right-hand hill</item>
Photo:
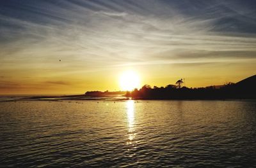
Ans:
[[[179,84],[179,83],[178,83]],[[139,90],[136,88],[132,92],[100,92],[90,91],[83,95],[62,95],[62,96],[37,96],[31,99],[58,98],[86,100],[93,97],[115,97],[124,95],[132,99],[256,99],[256,75],[250,76],[237,83],[226,83],[225,85],[187,88],[179,85],[167,85],[166,87],[150,87],[144,85]]]

